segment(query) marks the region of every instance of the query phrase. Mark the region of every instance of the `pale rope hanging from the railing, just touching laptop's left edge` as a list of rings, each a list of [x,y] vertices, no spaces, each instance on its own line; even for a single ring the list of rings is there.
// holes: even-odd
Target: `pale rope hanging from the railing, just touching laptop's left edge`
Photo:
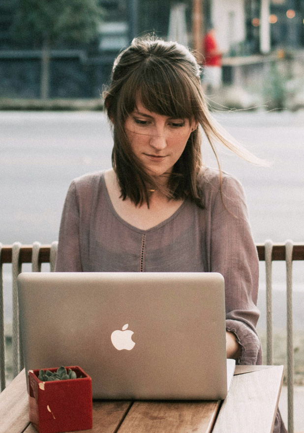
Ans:
[[[13,272],[13,377],[19,373],[19,314],[18,314],[18,290],[17,276],[21,272],[21,264],[19,263],[20,242],[15,242],[12,246],[12,272]]]

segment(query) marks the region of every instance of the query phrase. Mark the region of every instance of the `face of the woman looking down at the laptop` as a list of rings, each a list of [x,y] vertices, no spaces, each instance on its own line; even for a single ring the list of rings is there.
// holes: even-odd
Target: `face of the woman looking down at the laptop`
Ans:
[[[171,173],[196,127],[188,119],[149,111],[139,101],[125,121],[132,152],[152,176]]]

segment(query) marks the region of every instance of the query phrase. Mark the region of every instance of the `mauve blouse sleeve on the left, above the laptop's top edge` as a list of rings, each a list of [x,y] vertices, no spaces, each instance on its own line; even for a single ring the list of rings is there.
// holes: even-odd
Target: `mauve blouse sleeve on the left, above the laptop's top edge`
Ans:
[[[74,181],[67,191],[63,206],[55,271],[82,271],[79,243],[79,203]]]

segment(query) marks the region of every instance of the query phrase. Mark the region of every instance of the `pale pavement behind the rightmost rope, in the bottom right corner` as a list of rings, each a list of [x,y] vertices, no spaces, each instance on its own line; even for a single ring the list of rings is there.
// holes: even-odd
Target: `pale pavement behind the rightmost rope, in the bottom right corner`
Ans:
[[[287,386],[282,387],[279,409],[287,429]],[[294,431],[295,433],[304,433],[304,386],[294,387]]]

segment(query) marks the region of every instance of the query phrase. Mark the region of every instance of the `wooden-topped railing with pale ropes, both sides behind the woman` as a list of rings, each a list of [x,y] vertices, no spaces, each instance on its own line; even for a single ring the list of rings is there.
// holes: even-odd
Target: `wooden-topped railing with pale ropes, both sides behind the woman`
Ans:
[[[2,265],[12,264],[12,294],[13,294],[13,324],[12,324],[12,351],[13,351],[13,376],[23,369],[23,357],[21,341],[19,338],[19,315],[17,276],[22,272],[24,263],[31,263],[33,272],[41,271],[42,263],[50,263],[50,271],[54,271],[57,254],[57,242],[52,245],[41,245],[35,242],[33,245],[21,245],[16,242],[13,245],[0,244],[0,383],[1,391],[5,388],[5,357],[4,357],[4,308],[3,308],[3,278]],[[293,244],[286,241],[285,244],[273,244],[266,241],[265,244],[257,244],[257,252],[260,261],[266,264],[266,309],[267,309],[267,364],[273,364],[273,309],[272,309],[272,263],[273,261],[286,262],[286,294],[287,294],[287,386],[288,386],[288,432],[294,432],[293,425],[293,383],[294,383],[294,359],[293,359],[293,317],[292,317],[292,263],[295,260],[304,260],[304,244]]]

